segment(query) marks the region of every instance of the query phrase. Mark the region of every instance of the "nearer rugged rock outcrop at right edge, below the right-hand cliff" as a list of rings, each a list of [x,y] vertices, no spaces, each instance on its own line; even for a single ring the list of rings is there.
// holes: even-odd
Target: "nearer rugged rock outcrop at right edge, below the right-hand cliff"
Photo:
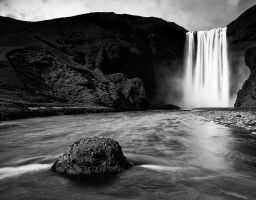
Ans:
[[[256,47],[246,51],[245,61],[251,75],[238,92],[235,107],[256,108]]]

